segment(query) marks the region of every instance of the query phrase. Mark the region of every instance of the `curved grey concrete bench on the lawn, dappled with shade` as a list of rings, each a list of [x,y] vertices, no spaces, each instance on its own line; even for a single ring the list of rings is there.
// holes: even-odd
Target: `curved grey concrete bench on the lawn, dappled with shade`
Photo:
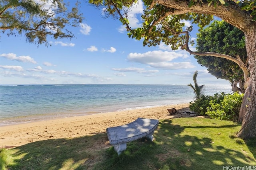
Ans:
[[[159,121],[155,119],[138,118],[127,125],[108,127],[106,129],[110,145],[118,155],[126,150],[126,143],[135,141],[142,137],[153,141],[153,133],[158,126]]]

